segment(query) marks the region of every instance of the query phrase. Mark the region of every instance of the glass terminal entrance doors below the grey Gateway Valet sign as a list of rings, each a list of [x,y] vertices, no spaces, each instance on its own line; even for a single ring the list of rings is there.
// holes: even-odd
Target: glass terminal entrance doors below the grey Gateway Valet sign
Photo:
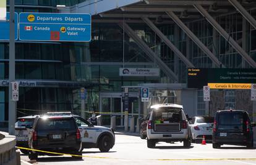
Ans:
[[[116,116],[116,126],[124,127],[122,93],[100,93],[100,113],[103,125],[110,125],[111,117]],[[129,116],[139,116],[140,103],[137,93],[129,93]]]

